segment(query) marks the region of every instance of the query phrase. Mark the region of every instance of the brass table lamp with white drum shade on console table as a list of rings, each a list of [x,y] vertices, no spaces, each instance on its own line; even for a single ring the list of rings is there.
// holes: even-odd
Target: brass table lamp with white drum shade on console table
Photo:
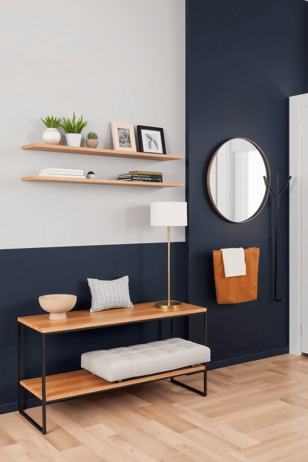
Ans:
[[[181,302],[170,300],[170,226],[187,226],[187,202],[151,202],[151,226],[168,227],[168,300],[156,302],[156,308],[173,310]]]

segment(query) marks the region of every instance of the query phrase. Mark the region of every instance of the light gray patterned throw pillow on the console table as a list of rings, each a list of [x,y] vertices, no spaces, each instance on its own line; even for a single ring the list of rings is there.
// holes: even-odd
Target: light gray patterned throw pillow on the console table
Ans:
[[[133,307],[129,298],[128,276],[113,281],[88,278],[88,284],[92,295],[91,313],[110,308]]]

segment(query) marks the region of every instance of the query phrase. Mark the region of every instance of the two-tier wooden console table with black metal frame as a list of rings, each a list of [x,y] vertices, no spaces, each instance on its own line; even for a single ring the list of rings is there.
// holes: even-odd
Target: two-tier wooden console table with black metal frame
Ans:
[[[91,313],[90,310],[69,311],[67,319],[54,321],[49,315],[18,317],[18,412],[34,425],[43,435],[46,434],[46,405],[70,398],[93,395],[111,389],[126,388],[139,383],[154,382],[170,378],[172,382],[206,396],[206,364],[195,365],[193,373],[204,373],[204,391],[194,389],[185,383],[178,382],[173,377],[191,374],[192,367],[183,367],[172,371],[161,372],[142,377],[134,377],[122,382],[108,382],[82,369],[80,371],[65,372],[46,376],[45,337],[46,335],[72,332],[85,329],[95,329],[121,324],[130,324],[160,319],[171,319],[171,338],[173,337],[173,319],[185,316],[185,338],[188,339],[189,317],[204,314],[204,345],[206,346],[206,308],[183,303],[176,310],[161,310],[155,303],[135,304],[133,308],[114,308]],[[34,329],[42,336],[42,377],[22,379],[21,326]],[[28,390],[42,402],[42,426],[31,419],[22,409],[22,389]]]

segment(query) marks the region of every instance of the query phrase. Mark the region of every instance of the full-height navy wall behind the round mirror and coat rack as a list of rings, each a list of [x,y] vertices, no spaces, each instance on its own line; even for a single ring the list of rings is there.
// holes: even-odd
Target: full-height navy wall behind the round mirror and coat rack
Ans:
[[[232,224],[211,206],[206,172],[230,138],[253,140],[269,162],[272,187],[289,176],[288,97],[308,92],[308,2],[188,0],[188,299],[208,307],[210,368],[288,352],[288,193],[278,218],[278,298],[274,294],[275,204],[270,193],[252,221]],[[291,180],[292,182],[292,180]],[[212,250],[260,247],[257,300],[218,305]],[[196,320],[192,340],[200,341]]]

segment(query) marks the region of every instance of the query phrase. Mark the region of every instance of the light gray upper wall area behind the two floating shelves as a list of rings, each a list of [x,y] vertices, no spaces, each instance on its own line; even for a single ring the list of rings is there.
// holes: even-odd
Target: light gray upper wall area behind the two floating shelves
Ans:
[[[41,143],[40,117],[83,114],[83,131],[112,148],[110,121],[163,127],[185,156],[185,1],[3,2],[0,15],[0,248],[164,242],[152,201],[185,201],[184,188],[21,182],[48,167],[116,178],[163,171],[185,182],[185,160],[158,162],[22,151]],[[62,128],[59,131],[64,133]],[[61,143],[65,144],[62,136]],[[173,228],[172,241],[185,229]]]

